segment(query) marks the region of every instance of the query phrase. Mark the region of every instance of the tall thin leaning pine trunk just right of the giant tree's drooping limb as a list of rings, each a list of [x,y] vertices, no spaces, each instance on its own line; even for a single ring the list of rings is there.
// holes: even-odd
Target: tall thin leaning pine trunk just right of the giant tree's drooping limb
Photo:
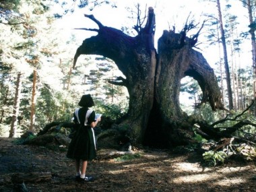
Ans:
[[[220,9],[220,0],[217,0],[216,2],[218,7],[220,33],[221,33],[222,46],[223,46],[223,52],[224,52],[224,67],[225,67],[225,73],[226,73],[226,86],[228,90],[228,104],[229,104],[229,109],[231,110],[234,108],[234,106],[233,106],[233,98],[232,98],[230,72],[229,72],[229,66],[228,66],[228,53],[226,49],[226,38],[225,38],[225,31],[224,31],[224,26],[222,22],[222,11]]]

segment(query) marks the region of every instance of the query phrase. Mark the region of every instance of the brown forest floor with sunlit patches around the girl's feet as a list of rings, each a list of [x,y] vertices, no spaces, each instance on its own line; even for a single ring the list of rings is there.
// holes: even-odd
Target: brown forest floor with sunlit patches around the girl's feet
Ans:
[[[16,144],[0,138],[0,191],[13,191],[14,174],[51,175],[49,181],[25,182],[27,191],[256,191],[256,162],[229,161],[221,166],[201,166],[201,155],[174,154],[166,150],[141,150],[132,160],[118,161],[98,152],[88,164],[94,182],[77,183],[66,150]]]

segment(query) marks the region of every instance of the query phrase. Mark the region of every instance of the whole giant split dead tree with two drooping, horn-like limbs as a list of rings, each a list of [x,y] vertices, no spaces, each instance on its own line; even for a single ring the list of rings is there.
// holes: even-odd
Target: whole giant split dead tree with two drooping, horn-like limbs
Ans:
[[[99,29],[98,35],[84,40],[77,49],[73,67],[79,55],[103,55],[113,59],[126,79],[119,77],[112,84],[126,86],[129,92],[127,119],[120,126],[127,128],[134,143],[173,146],[187,143],[193,135],[189,120],[179,106],[181,79],[193,77],[203,91],[201,102],[210,102],[212,109],[223,108],[221,94],[213,69],[203,55],[193,50],[197,36],[187,38],[164,31],[154,48],[154,10],[149,8],[148,22],[135,37],[103,26],[93,15],[85,15]],[[159,145],[158,145],[159,146]]]

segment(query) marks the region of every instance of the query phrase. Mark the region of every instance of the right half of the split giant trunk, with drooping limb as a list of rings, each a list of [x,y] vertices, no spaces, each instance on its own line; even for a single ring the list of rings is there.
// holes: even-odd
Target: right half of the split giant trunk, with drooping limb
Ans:
[[[192,42],[181,46],[181,39],[181,34],[164,31],[158,40],[156,100],[147,134],[149,141],[156,142],[154,145],[161,143],[161,146],[173,146],[189,143],[193,137],[192,124],[179,104],[183,77],[188,75],[197,80],[203,92],[201,102],[210,102],[213,110],[223,107],[213,69],[201,53],[192,49]],[[155,139],[156,135],[159,140]]]

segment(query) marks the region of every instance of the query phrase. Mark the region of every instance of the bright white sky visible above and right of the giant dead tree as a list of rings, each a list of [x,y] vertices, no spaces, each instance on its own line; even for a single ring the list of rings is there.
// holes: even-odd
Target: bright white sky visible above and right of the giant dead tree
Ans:
[[[222,3],[221,1],[220,3]],[[145,10],[145,7],[153,7],[154,13],[156,15],[156,34],[155,34],[155,47],[157,49],[157,40],[162,36],[164,30],[169,30],[172,26],[175,26],[177,32],[179,32],[187,18],[195,19],[196,22],[201,26],[203,22],[203,17],[201,15],[207,13],[217,13],[217,7],[215,3],[203,1],[203,0],[118,0],[117,8],[113,9],[110,5],[102,5],[101,7],[96,7],[92,11],[89,10],[90,7],[85,7],[83,9],[75,8],[74,13],[68,15],[65,18],[65,31],[68,33],[75,34],[77,41],[81,42],[85,38],[90,36],[95,36],[96,32],[88,32],[86,30],[74,30],[74,28],[98,28],[98,26],[92,22],[90,19],[85,18],[84,14],[93,14],[94,17],[99,20],[104,26],[109,26],[121,30],[122,26],[133,26],[135,22],[131,22],[128,18],[131,16],[131,13],[127,11],[126,7],[134,8],[135,5],[139,3],[142,7],[142,10]],[[222,5],[224,8],[224,5]],[[248,19],[245,17],[247,15],[247,9],[242,7],[241,2],[238,0],[232,0],[232,11],[234,14],[240,14],[241,27],[248,31]],[[190,16],[189,16],[190,14]],[[245,22],[246,21],[246,22]],[[193,34],[197,30],[192,31]],[[216,46],[207,47],[203,45],[206,39],[204,34],[199,36],[199,42],[202,42],[202,45],[199,45],[201,50],[197,50],[203,54],[207,62],[211,67],[214,67],[214,63],[218,62],[219,56],[216,54],[218,48]],[[244,44],[242,48],[247,54],[245,59],[242,59],[243,65],[251,65],[251,46],[250,44]],[[249,51],[247,48],[249,46]],[[214,53],[214,54],[213,54]],[[249,54],[249,55],[248,55]],[[249,59],[248,59],[249,58]]]

